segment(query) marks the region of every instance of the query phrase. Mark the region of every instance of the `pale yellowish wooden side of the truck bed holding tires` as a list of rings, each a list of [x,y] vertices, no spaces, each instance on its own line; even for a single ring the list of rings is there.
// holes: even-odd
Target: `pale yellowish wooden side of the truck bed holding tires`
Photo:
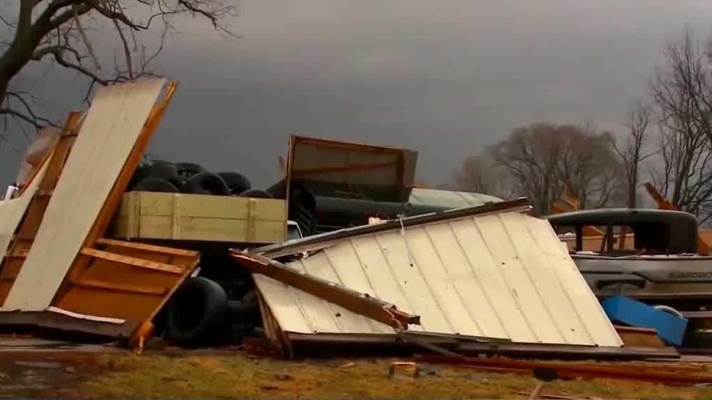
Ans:
[[[130,192],[110,236],[268,244],[284,241],[286,224],[285,200]]]

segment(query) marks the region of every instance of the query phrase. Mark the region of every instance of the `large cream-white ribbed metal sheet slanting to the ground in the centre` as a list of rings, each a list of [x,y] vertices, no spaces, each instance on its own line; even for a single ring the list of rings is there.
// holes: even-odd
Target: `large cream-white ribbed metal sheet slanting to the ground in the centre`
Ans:
[[[548,222],[520,212],[347,238],[290,266],[421,315],[412,330],[622,345]],[[265,276],[255,279],[287,332],[393,332]]]

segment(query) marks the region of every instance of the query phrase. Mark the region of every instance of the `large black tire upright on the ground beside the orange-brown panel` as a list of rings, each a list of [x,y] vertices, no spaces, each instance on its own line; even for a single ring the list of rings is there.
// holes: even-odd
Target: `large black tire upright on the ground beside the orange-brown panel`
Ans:
[[[227,294],[201,276],[189,278],[174,293],[166,318],[167,336],[182,346],[209,342],[226,321]]]

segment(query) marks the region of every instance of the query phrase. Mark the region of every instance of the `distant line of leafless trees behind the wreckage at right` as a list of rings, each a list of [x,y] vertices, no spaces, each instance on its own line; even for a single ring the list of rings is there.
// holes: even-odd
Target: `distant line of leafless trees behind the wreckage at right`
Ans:
[[[536,122],[467,157],[459,190],[526,196],[545,215],[573,195],[580,207],[636,207],[653,183],[681,210],[712,217],[712,36],[666,46],[649,95],[629,108],[624,131]]]

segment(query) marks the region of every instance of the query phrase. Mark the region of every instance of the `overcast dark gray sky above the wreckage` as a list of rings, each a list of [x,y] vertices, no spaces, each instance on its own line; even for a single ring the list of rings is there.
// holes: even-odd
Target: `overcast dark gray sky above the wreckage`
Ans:
[[[706,36],[712,1],[246,0],[230,22],[179,26],[157,67],[179,90],[150,151],[258,187],[278,178],[290,134],[403,146],[417,175],[449,181],[468,154],[533,121],[616,129],[646,95],[664,45]],[[28,70],[57,113],[76,80]],[[19,138],[14,147],[23,146]],[[0,183],[18,155],[0,148]]]

